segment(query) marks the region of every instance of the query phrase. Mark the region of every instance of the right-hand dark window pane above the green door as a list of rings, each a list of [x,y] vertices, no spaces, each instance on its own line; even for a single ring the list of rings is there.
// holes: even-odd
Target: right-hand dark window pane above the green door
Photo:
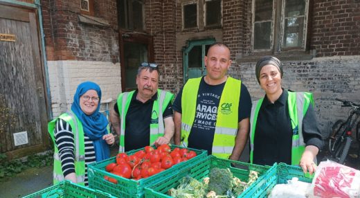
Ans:
[[[222,24],[222,1],[209,0],[205,2],[205,26],[221,26]]]

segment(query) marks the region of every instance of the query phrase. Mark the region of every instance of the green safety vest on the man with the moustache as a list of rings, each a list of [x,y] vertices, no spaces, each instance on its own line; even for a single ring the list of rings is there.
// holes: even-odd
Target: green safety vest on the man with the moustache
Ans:
[[[132,96],[135,91],[121,93],[118,97],[118,111],[120,115],[120,146],[119,152],[125,151],[125,118],[127,110],[129,109],[130,102],[132,101]],[[165,127],[163,123],[163,112],[169,103],[174,98],[174,94],[163,91],[161,89],[157,90],[157,99],[154,100],[154,105],[152,105],[152,120],[157,120],[156,122],[150,122],[150,143],[154,143],[157,138],[163,136]],[[162,109],[159,111],[159,109]],[[161,120],[161,122],[159,122]]]

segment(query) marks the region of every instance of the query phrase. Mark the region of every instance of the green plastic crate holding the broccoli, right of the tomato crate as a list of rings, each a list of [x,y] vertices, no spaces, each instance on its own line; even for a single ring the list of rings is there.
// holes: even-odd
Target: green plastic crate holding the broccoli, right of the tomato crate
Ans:
[[[235,167],[232,164],[235,165]],[[178,174],[173,174],[172,177],[166,179],[166,181],[145,188],[145,198],[170,197],[168,195],[168,190],[177,188],[177,186],[179,186],[179,181],[183,177],[189,175],[190,177],[201,181],[204,177],[208,177],[211,168],[229,168],[235,177],[242,181],[247,181],[249,179],[249,170],[258,171],[260,174],[258,179],[260,179],[271,167],[244,163],[241,161],[219,159],[216,156],[208,156],[198,165],[182,170]],[[239,197],[242,197],[242,195]]]

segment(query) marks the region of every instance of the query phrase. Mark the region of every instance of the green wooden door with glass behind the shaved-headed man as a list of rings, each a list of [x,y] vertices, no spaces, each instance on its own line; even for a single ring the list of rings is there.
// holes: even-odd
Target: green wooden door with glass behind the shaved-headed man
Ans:
[[[183,48],[183,83],[189,78],[206,75],[204,57],[209,46],[214,43],[215,39],[188,41],[186,47]]]

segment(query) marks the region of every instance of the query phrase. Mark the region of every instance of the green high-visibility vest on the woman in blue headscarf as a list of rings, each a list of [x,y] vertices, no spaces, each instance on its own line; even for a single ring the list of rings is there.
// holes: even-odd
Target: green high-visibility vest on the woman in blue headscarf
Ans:
[[[82,129],[82,123],[78,118],[73,114],[72,111],[66,112],[60,115],[58,118],[61,118],[66,123],[69,123],[71,126],[73,135],[74,135],[74,143],[75,143],[75,176],[76,182],[82,186],[85,185],[85,143],[84,143],[84,131]],[[62,164],[60,161],[59,150],[57,149],[57,145],[55,142],[54,129],[56,125],[56,121],[58,118],[53,119],[50,123],[48,123],[48,133],[51,136],[51,139],[54,143],[54,170],[53,170],[53,182],[54,185],[63,181],[64,174],[62,172]]]

